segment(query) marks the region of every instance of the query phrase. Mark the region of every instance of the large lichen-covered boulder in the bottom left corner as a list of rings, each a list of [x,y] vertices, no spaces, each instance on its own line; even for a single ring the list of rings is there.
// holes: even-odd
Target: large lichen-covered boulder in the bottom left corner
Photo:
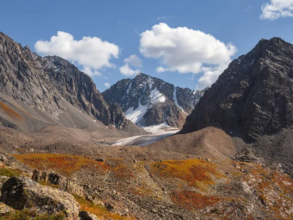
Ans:
[[[14,176],[3,184],[0,201],[17,210],[53,209],[54,212],[63,212],[67,220],[78,220],[80,210],[80,205],[69,193],[42,186],[24,176]]]

